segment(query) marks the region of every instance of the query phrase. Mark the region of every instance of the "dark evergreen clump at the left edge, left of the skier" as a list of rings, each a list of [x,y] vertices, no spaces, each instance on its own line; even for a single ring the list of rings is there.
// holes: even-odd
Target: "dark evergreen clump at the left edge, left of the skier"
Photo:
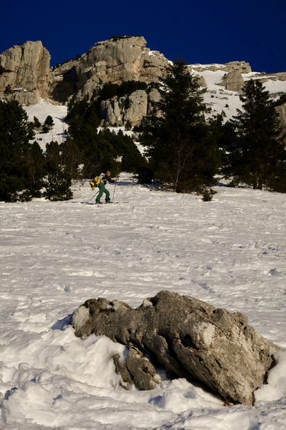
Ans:
[[[31,143],[33,126],[18,102],[0,101],[0,200],[70,199],[71,178],[59,162],[59,145],[49,143],[44,155],[39,143]]]

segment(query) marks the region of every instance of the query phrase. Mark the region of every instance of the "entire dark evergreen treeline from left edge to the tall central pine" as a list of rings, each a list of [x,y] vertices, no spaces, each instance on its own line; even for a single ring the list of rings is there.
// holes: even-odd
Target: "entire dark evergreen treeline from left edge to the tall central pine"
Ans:
[[[122,91],[146,89],[142,82],[128,82],[124,87],[106,84],[89,101],[70,102],[66,121],[68,135],[63,142],[52,141],[43,153],[35,138],[35,129],[48,132],[53,118],[44,125],[35,117],[28,122],[26,111],[18,102],[0,102],[0,200],[28,201],[34,197],[66,200],[73,197],[72,179],[92,178],[112,170],[137,172],[146,159],[131,139],[120,130],[117,134],[103,127],[98,131],[99,102],[107,94],[121,96]],[[32,143],[31,143],[32,142]]]

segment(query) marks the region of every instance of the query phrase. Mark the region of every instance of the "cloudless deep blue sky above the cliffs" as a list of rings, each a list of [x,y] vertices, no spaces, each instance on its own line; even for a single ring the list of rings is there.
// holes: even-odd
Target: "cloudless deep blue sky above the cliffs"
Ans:
[[[113,35],[142,35],[169,60],[286,71],[285,27],[285,0],[0,0],[0,53],[41,40],[51,66]]]

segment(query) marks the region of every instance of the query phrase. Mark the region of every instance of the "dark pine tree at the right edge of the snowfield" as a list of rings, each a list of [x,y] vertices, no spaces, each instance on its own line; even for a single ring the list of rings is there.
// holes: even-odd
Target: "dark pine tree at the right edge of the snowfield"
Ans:
[[[280,137],[278,114],[269,92],[258,80],[249,80],[240,96],[242,109],[232,123],[236,139],[228,147],[228,173],[233,183],[254,189],[286,189],[285,149]]]

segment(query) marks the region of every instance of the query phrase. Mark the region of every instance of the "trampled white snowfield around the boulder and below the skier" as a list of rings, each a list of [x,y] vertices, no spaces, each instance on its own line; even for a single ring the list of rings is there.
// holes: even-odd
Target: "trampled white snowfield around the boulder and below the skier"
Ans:
[[[113,186],[109,186],[111,196]],[[0,387],[3,429],[282,429],[286,357],[253,408],[223,406],[184,379],[124,391],[105,337],[77,339],[70,314],[88,298],[133,307],[162,289],[243,312],[286,347],[286,195],[219,186],[213,201],[139,186],[115,199],[0,204]]]

